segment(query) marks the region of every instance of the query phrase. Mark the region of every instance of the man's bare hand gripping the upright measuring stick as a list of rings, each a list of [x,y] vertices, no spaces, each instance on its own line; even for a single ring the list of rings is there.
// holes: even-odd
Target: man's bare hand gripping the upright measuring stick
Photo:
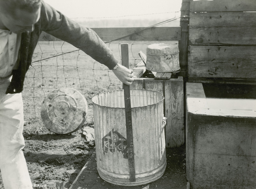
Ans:
[[[131,85],[132,81],[134,80],[132,70],[118,64],[118,68],[116,70],[112,70],[116,77],[126,85]]]

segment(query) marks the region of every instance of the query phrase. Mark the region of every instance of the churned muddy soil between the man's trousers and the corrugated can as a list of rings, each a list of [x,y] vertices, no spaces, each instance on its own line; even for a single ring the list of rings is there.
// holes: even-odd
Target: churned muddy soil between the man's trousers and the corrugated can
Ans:
[[[94,127],[85,121],[78,131],[60,135],[48,131],[40,117],[25,117],[23,153],[33,189],[56,189],[56,183],[63,181],[68,188],[73,183],[94,151],[82,134],[85,126]]]

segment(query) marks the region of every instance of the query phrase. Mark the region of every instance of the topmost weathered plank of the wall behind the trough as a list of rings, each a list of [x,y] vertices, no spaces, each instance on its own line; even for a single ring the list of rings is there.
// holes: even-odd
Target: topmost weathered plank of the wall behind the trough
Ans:
[[[214,0],[191,1],[190,12],[233,12],[255,11],[254,0]]]

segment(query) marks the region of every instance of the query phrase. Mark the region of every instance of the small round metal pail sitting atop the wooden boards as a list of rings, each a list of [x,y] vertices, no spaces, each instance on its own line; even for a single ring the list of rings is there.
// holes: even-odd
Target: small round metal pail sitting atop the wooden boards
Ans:
[[[147,70],[153,72],[180,72],[178,46],[167,43],[148,45],[146,64]]]

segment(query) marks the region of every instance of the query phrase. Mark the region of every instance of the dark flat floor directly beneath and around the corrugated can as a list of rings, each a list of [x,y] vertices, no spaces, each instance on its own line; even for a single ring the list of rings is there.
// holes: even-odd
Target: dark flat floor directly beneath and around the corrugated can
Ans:
[[[185,151],[185,145],[166,148],[167,165],[163,176],[154,182],[137,186],[120,186],[104,181],[98,174],[96,153],[93,153],[72,189],[187,189]]]

